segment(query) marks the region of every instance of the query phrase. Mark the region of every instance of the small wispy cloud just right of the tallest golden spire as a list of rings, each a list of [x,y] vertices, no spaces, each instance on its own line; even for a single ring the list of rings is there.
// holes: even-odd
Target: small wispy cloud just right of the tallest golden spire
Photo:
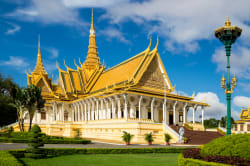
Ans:
[[[124,34],[115,28],[109,27],[99,33],[106,36],[107,40],[118,39],[120,42],[130,44],[130,41],[124,37]]]

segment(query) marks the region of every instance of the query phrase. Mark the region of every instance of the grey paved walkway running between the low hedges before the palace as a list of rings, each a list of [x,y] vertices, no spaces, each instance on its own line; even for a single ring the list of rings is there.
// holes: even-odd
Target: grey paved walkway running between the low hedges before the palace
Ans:
[[[92,142],[91,144],[45,144],[45,148],[177,148],[177,147],[197,147],[198,145],[160,145],[153,144],[148,145],[138,145],[132,144],[129,146],[123,144],[110,144],[110,143],[100,143]],[[11,149],[25,149],[28,145],[25,143],[0,143],[0,150],[11,150]]]

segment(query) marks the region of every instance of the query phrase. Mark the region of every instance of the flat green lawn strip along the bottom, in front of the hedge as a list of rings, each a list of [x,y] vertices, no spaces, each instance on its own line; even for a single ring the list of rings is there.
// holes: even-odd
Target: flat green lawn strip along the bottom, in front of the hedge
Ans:
[[[27,166],[174,166],[179,153],[67,155],[48,159],[21,158]]]

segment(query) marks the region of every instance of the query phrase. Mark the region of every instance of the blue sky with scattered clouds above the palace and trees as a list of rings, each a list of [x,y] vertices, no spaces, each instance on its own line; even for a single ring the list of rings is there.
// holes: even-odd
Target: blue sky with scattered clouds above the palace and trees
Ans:
[[[112,67],[146,49],[159,36],[158,51],[176,92],[211,105],[206,118],[226,113],[220,79],[226,70],[223,45],[214,30],[226,16],[243,29],[232,47],[232,74],[238,85],[232,115],[250,106],[250,2],[247,0],[0,0],[0,72],[26,86],[25,70],[36,63],[38,34],[48,73],[58,78],[56,61],[75,68],[87,55],[91,8],[101,62]],[[199,111],[198,111],[199,112]],[[199,113],[198,113],[199,115]],[[197,115],[197,116],[198,116]]]

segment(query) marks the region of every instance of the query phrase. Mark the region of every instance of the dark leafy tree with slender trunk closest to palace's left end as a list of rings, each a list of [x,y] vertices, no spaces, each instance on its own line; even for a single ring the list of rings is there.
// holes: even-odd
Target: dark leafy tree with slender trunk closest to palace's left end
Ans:
[[[34,114],[36,110],[40,111],[45,104],[45,100],[43,100],[42,95],[41,95],[42,89],[36,87],[35,85],[29,85],[25,89],[25,108],[28,110],[29,113],[29,119],[30,119],[30,124],[29,124],[29,131],[32,127],[32,120],[34,117]]]

